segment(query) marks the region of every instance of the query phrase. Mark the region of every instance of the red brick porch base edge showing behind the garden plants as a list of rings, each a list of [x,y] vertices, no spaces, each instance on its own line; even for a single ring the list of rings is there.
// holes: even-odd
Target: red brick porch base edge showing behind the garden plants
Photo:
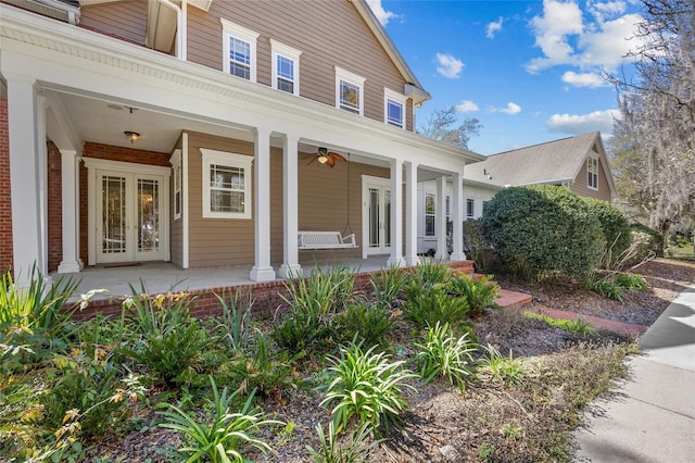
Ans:
[[[463,272],[468,275],[473,273],[472,261],[451,262],[447,265],[455,272]],[[408,268],[405,268],[406,271]],[[371,277],[378,274],[375,272],[362,272],[355,275],[355,290],[368,291],[370,289]],[[288,296],[285,287],[286,280],[275,280],[266,283],[254,283],[244,285],[220,286],[216,288],[194,289],[185,291],[189,298],[198,298],[198,302],[193,308],[192,314],[198,317],[206,317],[217,315],[222,312],[222,305],[215,295],[219,295],[228,300],[230,295],[237,291],[250,291],[254,301],[252,313],[265,316],[273,316],[276,312],[286,308],[286,303],[281,296]],[[124,297],[114,297],[112,299],[101,299],[90,302],[84,310],[77,310],[73,314],[75,320],[89,320],[97,313],[103,315],[121,315],[122,302]]]

